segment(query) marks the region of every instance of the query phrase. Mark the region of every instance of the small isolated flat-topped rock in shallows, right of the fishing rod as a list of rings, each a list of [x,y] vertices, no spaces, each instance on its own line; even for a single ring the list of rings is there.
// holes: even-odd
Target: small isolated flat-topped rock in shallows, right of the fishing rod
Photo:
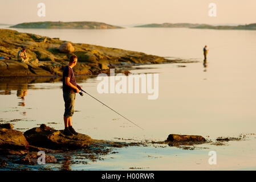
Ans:
[[[200,135],[170,134],[166,142],[206,142],[206,139]]]

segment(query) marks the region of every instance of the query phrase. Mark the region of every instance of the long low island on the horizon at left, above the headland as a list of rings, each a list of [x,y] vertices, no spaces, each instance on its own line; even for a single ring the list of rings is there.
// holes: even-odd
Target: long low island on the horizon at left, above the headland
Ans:
[[[123,28],[100,22],[31,22],[20,23],[11,28],[76,28],[76,29],[111,29]]]

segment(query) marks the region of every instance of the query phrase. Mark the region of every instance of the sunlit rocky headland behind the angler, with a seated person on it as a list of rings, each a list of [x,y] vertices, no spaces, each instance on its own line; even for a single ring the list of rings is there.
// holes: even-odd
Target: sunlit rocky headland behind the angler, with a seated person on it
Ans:
[[[64,49],[63,45],[66,45]],[[27,63],[17,60],[17,53],[23,47],[29,57]],[[118,73],[127,72],[133,65],[181,62],[142,52],[71,43],[59,38],[0,29],[0,57],[3,58],[0,60],[0,77],[62,76],[62,70],[72,54],[78,56],[78,64],[74,67],[76,76],[109,73],[110,68],[115,68]]]

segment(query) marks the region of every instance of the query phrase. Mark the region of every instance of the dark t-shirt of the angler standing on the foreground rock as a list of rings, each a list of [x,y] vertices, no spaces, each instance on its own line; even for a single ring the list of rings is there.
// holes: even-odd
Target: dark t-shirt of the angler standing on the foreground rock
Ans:
[[[63,83],[63,92],[71,92],[75,93],[75,90],[72,89],[70,86],[67,86],[65,84],[65,77],[70,77],[70,82],[72,85],[76,86],[76,79],[75,79],[75,74],[72,68],[69,66],[66,66],[63,70],[63,78],[62,78],[62,83]]]

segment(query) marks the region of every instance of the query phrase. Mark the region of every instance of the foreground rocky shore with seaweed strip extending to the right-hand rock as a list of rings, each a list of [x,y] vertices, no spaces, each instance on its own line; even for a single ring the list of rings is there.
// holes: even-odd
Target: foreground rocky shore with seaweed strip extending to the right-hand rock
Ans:
[[[0,170],[52,170],[53,166],[59,166],[58,170],[71,170],[71,164],[88,164],[88,161],[104,160],[103,156],[118,153],[113,151],[115,148],[169,146],[182,150],[195,150],[205,148],[198,147],[200,144],[222,146],[229,140],[245,138],[245,135],[239,138],[217,138],[214,142],[200,135],[170,134],[165,141],[159,142],[113,142],[92,139],[80,133],[67,136],[63,134],[63,130],[55,130],[45,124],[22,133],[14,130],[10,123],[2,123],[0,124]],[[38,164],[42,151],[47,165]],[[75,162],[71,162],[71,158],[75,158]]]

